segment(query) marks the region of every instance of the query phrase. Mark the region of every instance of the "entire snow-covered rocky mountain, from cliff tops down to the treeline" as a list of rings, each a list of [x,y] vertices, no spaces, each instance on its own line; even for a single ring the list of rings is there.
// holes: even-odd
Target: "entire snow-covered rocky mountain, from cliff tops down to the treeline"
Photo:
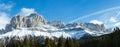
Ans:
[[[0,30],[0,38],[4,37],[23,37],[26,35],[67,38],[81,38],[89,34],[100,36],[111,33],[112,30],[105,29],[103,24],[93,23],[64,23],[62,21],[48,22],[43,16],[32,13],[29,16],[17,15],[12,18],[5,29]]]

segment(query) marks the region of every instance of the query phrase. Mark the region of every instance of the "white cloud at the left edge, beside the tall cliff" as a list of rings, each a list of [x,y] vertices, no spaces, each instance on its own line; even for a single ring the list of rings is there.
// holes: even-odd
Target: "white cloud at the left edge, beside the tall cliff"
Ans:
[[[9,23],[9,17],[7,16],[7,13],[0,12],[0,29],[4,29],[6,24]]]

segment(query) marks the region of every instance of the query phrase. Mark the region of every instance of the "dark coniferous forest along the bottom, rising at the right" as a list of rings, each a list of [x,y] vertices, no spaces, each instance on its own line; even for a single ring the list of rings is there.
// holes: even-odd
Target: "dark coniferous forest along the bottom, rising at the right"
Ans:
[[[0,40],[0,47],[120,47],[120,29],[115,28],[113,33],[99,37],[81,39],[63,38],[62,36],[55,39],[35,36],[11,39],[6,37]]]

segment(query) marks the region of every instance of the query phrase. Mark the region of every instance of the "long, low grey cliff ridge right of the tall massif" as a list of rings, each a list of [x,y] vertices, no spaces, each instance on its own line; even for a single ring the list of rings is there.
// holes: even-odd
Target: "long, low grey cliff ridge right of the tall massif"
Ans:
[[[90,30],[90,31],[105,31],[105,26],[99,25],[99,24],[93,24],[93,23],[69,23],[65,24],[61,21],[52,21],[49,22],[50,25],[57,27],[59,29],[67,30],[67,31],[72,31],[72,30]]]

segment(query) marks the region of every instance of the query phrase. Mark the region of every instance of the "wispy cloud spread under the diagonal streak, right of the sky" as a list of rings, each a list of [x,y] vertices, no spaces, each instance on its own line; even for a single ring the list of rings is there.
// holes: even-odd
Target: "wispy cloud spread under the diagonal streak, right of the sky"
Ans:
[[[90,22],[94,24],[104,24],[106,28],[120,26],[120,6],[96,11],[94,13],[79,17],[70,21]],[[95,20],[94,20],[95,19]]]

